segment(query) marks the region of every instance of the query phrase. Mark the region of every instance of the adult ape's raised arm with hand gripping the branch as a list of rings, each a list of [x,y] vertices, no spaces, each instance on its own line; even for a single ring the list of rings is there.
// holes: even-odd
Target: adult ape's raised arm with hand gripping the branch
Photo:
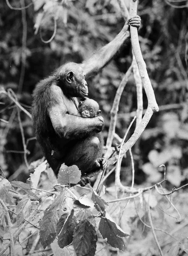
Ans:
[[[94,53],[91,58],[84,61],[81,66],[86,74],[86,78],[96,75],[114,57],[122,44],[130,37],[129,25],[140,27],[140,17],[135,16],[127,20],[121,32],[107,45]]]

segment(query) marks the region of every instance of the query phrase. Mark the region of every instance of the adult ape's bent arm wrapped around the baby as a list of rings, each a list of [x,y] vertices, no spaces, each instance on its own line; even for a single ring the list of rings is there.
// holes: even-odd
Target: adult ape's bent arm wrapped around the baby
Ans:
[[[85,137],[103,130],[104,121],[102,116],[83,118],[68,114],[67,108],[63,103],[60,87],[52,85],[51,94],[53,94],[54,101],[51,101],[53,105],[49,106],[48,115],[55,132],[60,137],[74,140],[75,138]]]

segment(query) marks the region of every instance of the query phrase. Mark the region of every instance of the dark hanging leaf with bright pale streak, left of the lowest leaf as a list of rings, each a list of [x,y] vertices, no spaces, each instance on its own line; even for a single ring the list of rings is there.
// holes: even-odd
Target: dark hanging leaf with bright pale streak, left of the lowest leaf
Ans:
[[[77,219],[73,216],[74,209],[71,210],[70,214],[63,214],[57,222],[57,236],[58,244],[60,248],[71,244],[73,240],[74,228],[77,225]]]

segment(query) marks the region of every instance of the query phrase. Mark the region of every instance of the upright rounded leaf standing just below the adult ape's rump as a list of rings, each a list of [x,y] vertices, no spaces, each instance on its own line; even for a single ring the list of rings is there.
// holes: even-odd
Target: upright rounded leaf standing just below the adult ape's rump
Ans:
[[[77,184],[80,181],[81,171],[77,166],[66,166],[64,163],[60,167],[57,182],[61,185]]]

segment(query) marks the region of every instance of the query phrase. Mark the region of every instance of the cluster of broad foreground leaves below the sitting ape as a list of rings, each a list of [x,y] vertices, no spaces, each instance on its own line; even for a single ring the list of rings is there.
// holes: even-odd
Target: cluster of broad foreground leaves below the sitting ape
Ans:
[[[40,170],[41,172],[45,171],[43,164],[38,166],[34,174],[31,175],[32,184],[37,184],[36,180]],[[80,175],[81,172],[77,166],[67,167],[63,164],[57,178],[58,183],[54,184],[57,192],[54,192],[55,197],[51,198],[48,205],[45,204],[45,195],[34,193],[34,188],[20,181],[12,181],[10,183],[8,180],[2,179],[0,181],[0,198],[5,204],[8,204],[8,208],[9,205],[14,204],[16,198],[16,211],[13,212],[16,215],[15,227],[22,226],[24,222],[27,222],[31,215],[31,209],[35,208],[37,201],[42,207],[46,208],[42,211],[42,218],[40,217],[41,220],[37,227],[44,250],[57,240],[60,251],[62,249],[65,250],[65,247],[71,244],[76,255],[94,256],[99,236],[98,230],[112,247],[125,250],[123,238],[128,234],[108,215],[106,211],[108,204],[100,195],[97,195],[91,186],[88,186],[87,195],[78,195],[74,187],[69,186],[77,184],[80,180]],[[47,198],[50,194],[49,191]],[[41,213],[37,212],[38,217],[39,215]],[[96,218],[99,218],[100,221],[96,222]],[[7,223],[5,212],[3,212],[2,219],[5,219],[4,224],[1,221],[1,226],[5,231]],[[30,224],[32,226],[32,223]]]

